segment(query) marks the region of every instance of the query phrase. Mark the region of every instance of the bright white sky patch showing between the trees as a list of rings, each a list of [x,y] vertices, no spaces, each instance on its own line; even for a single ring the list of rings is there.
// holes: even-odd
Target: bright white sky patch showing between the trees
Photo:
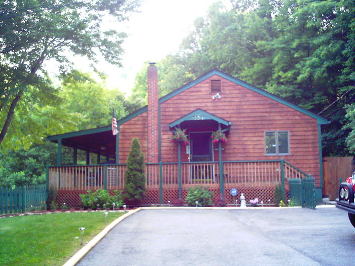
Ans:
[[[144,62],[156,62],[176,52],[182,39],[192,30],[194,20],[204,16],[208,7],[217,1],[143,0],[139,8],[141,12],[130,16],[125,23],[127,26],[122,29],[129,34],[123,43],[123,67],[107,63],[98,65],[99,70],[109,75],[107,85],[129,94],[135,74]]]

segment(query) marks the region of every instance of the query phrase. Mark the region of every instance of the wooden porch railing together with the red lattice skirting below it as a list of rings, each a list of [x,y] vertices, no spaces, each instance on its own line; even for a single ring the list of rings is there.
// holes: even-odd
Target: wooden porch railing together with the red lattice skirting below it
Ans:
[[[220,168],[222,165],[222,168]],[[48,167],[48,182],[58,191],[58,201],[77,206],[79,194],[99,188],[123,190],[126,165],[85,165]],[[222,175],[220,174],[222,173]],[[244,193],[246,200],[258,198],[265,204],[273,203],[274,188],[281,183],[288,195],[290,178],[308,175],[284,160],[276,161],[222,161],[146,164],[147,196],[141,202],[168,204],[185,199],[187,189],[195,185],[208,186],[215,200],[224,197],[233,204],[231,188]],[[238,199],[237,197],[237,199]],[[270,201],[269,201],[270,200]]]

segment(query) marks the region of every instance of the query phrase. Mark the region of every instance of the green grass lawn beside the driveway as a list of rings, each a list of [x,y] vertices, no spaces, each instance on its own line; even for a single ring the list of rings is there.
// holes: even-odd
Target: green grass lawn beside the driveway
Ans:
[[[122,212],[109,212],[108,224]],[[103,212],[53,213],[0,219],[0,265],[62,265],[104,227]],[[78,237],[76,239],[76,237]]]

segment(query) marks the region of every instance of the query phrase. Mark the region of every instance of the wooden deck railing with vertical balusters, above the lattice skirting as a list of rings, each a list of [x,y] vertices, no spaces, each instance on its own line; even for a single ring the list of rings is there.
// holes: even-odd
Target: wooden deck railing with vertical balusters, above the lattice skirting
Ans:
[[[181,186],[214,186],[220,183],[219,162],[181,163]],[[49,167],[49,185],[60,190],[124,189],[125,164]],[[178,163],[146,164],[146,185],[150,189],[175,189],[179,186]],[[290,178],[308,175],[283,160],[225,161],[224,184],[271,187]],[[160,180],[162,180],[160,185]]]

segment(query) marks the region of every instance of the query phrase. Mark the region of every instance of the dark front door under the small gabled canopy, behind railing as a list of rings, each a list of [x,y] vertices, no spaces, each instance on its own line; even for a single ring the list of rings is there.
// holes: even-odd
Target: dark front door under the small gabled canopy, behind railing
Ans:
[[[213,161],[212,141],[210,132],[190,133],[190,162],[211,162]],[[214,177],[212,164],[199,163],[190,167],[190,181],[204,182]]]

